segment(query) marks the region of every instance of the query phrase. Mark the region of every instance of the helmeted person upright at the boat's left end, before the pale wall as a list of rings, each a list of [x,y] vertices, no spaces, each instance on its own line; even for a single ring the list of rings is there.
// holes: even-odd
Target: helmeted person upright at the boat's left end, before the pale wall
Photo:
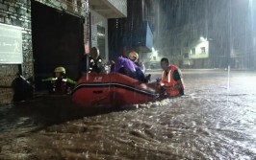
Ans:
[[[89,73],[105,73],[105,64],[96,47],[90,49]]]

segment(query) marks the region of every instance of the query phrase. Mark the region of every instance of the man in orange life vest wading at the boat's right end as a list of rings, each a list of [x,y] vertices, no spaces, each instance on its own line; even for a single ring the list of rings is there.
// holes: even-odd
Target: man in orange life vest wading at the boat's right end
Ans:
[[[161,59],[161,67],[163,73],[161,80],[158,80],[158,82],[164,94],[171,97],[184,95],[184,81],[180,69],[169,64],[166,57]]]

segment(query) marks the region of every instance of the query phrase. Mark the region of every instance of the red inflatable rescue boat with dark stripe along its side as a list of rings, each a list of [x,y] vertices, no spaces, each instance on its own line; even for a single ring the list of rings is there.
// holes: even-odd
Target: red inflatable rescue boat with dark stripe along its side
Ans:
[[[78,106],[118,106],[148,103],[158,96],[147,84],[122,74],[87,74],[73,89],[72,102]]]

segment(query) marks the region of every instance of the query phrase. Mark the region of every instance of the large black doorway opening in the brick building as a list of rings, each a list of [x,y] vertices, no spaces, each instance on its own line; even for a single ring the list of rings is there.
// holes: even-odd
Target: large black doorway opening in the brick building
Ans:
[[[42,89],[40,81],[58,66],[65,68],[68,78],[78,79],[85,52],[83,18],[35,1],[31,5],[36,88]]]

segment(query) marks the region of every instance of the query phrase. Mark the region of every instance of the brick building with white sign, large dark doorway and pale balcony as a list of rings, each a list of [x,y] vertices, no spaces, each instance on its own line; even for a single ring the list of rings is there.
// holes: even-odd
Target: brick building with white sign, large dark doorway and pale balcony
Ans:
[[[92,45],[107,59],[108,32],[102,26],[107,18],[126,16],[126,8],[126,0],[0,1],[0,104],[11,103],[16,73],[33,78],[37,90],[57,66],[64,66],[71,79],[79,78],[82,56]]]

